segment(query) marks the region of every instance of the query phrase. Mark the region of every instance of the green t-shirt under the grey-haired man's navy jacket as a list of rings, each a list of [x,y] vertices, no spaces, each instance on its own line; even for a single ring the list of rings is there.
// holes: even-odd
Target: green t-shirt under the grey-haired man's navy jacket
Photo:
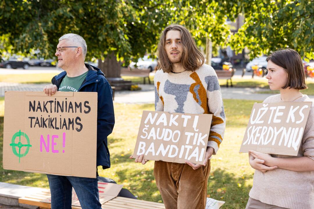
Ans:
[[[79,87],[81,87],[88,71],[83,73],[80,76],[76,77],[68,77],[66,75],[63,80],[61,81],[61,84],[59,86],[58,91],[78,91]]]

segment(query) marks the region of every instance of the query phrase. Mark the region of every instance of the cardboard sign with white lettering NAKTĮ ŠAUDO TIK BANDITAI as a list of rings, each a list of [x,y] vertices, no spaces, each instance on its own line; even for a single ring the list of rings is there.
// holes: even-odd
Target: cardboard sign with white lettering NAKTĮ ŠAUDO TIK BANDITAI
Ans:
[[[212,116],[143,111],[134,158],[203,164]]]

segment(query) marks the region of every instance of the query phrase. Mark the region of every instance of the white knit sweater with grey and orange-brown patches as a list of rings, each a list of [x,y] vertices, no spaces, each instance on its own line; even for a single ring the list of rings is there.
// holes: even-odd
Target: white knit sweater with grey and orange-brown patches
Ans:
[[[189,114],[213,114],[208,147],[217,153],[224,138],[225,111],[214,69],[202,65],[196,71],[156,72],[155,110]]]

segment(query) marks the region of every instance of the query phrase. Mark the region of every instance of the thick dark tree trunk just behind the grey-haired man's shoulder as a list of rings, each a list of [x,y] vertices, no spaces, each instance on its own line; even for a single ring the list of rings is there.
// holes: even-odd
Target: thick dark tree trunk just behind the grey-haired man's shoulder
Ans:
[[[117,62],[116,55],[112,52],[106,59],[98,60],[98,68],[105,74],[106,78],[120,78],[121,63]]]

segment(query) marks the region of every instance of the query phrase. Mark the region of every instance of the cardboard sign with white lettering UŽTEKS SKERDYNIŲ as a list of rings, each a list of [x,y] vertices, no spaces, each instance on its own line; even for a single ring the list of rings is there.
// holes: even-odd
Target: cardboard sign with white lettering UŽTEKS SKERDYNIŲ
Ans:
[[[255,103],[240,152],[296,156],[312,102]]]

